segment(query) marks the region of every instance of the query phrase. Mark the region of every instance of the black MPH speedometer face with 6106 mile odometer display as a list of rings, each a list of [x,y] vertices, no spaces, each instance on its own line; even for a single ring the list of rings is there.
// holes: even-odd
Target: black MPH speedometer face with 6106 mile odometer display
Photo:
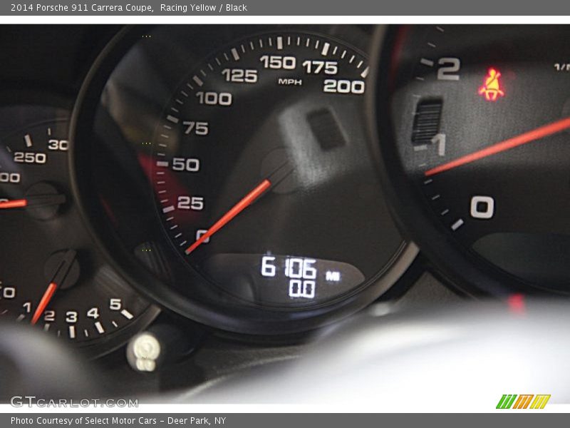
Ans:
[[[172,243],[212,285],[316,305],[375,279],[400,248],[361,112],[368,60],[316,34],[260,34],[182,81],[152,141]]]

